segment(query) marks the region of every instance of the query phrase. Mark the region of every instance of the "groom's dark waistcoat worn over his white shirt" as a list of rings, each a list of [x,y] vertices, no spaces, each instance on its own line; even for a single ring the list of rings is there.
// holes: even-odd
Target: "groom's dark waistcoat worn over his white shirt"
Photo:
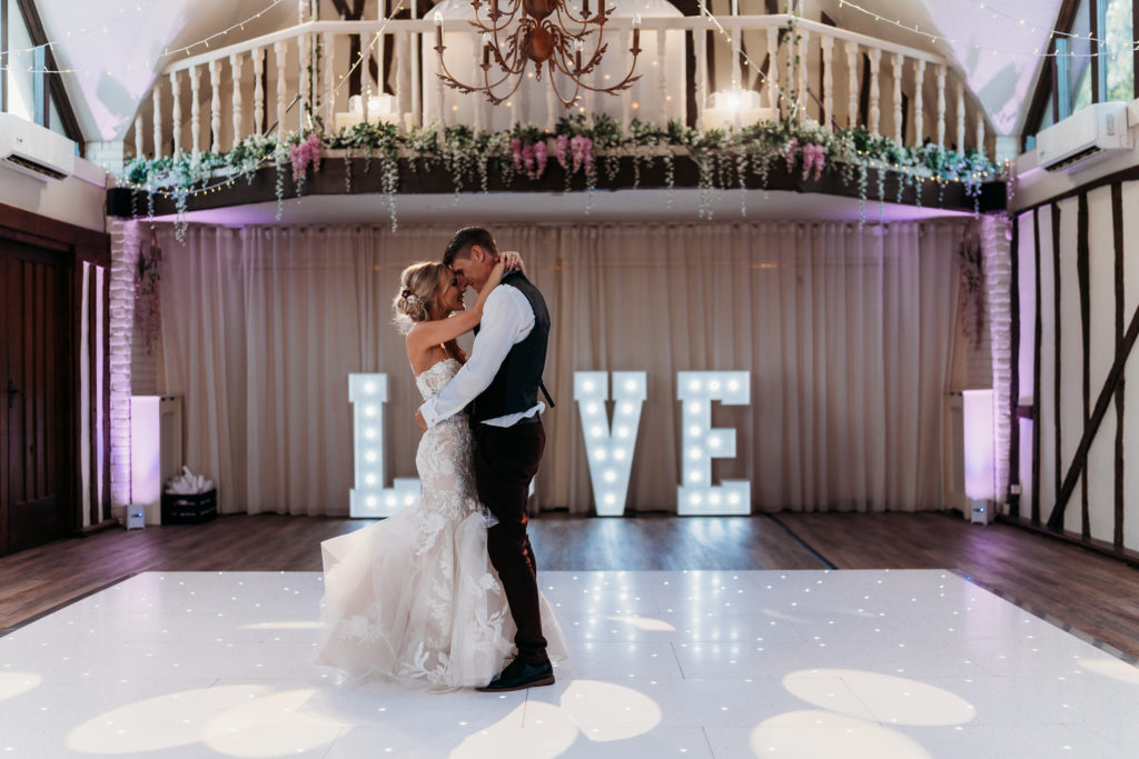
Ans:
[[[502,284],[517,288],[534,310],[534,329],[506,355],[490,387],[470,404],[470,421],[481,422],[527,411],[538,405],[538,387],[546,366],[550,312],[538,288],[521,272],[510,272]]]

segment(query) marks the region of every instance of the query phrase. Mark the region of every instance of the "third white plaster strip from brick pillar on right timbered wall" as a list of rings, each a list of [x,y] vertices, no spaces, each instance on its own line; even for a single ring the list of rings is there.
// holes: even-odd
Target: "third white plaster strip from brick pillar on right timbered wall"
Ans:
[[[1060,485],[1067,476],[1080,436],[1083,434],[1083,335],[1080,325],[1080,277],[1076,267],[1076,244],[1079,240],[1080,206],[1077,198],[1066,198],[1056,204],[1060,212],[1060,372],[1057,378],[1060,387]],[[1052,435],[1055,435],[1052,430]],[[1082,519],[1080,513],[1080,488],[1068,496],[1067,509],[1064,511],[1064,529],[1080,533]],[[1059,494],[1057,494],[1058,496]],[[1043,517],[1043,514],[1041,514]]]

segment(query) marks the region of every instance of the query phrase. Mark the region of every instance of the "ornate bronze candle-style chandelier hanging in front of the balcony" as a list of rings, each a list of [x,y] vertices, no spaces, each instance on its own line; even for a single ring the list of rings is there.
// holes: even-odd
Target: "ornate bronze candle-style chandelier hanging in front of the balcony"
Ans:
[[[478,77],[477,69],[482,68],[482,84],[464,84],[448,71],[446,64],[443,61],[443,51],[446,49],[443,44],[443,16],[436,10],[435,51],[439,53],[439,77],[448,86],[465,94],[485,93],[486,99],[495,106],[518,90],[531,63],[534,64],[534,79],[536,81],[541,81],[542,68],[546,67],[550,86],[566,108],[572,107],[579,100],[582,90],[609,94],[628,90],[633,82],[640,79],[639,74],[633,75],[637,69],[637,56],[641,52],[640,16],[633,18],[633,40],[632,47],[629,48],[633,58],[625,77],[612,86],[604,88],[593,86],[584,81],[585,75],[597,67],[601,61],[601,56],[609,47],[601,42],[601,33],[608,20],[605,8],[606,0],[597,1],[596,14],[590,14],[590,0],[581,0],[581,15],[574,16],[566,8],[565,0],[506,0],[506,10],[499,7],[501,0],[490,0],[490,10],[484,17],[480,17],[480,8],[487,3],[482,0],[470,0],[470,7],[475,10],[475,19],[469,23],[475,27],[476,33],[482,32],[482,65],[475,66],[476,80]],[[517,26],[508,33],[507,27],[519,13]],[[592,53],[587,58],[582,53],[590,36],[593,36],[595,41]],[[498,65],[498,69],[493,73],[491,72],[493,67],[491,59]],[[572,91],[563,93],[558,89],[554,72],[558,72],[570,80]],[[510,83],[511,79],[513,83]],[[500,93],[500,89],[505,91]]]

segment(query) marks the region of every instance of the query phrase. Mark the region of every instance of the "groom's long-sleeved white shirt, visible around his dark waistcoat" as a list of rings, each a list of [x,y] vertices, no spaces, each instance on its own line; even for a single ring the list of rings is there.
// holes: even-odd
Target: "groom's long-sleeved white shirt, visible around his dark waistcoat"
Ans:
[[[483,320],[470,348],[470,358],[442,390],[428,398],[419,411],[427,427],[453,416],[467,407],[480,393],[490,387],[494,376],[516,344],[522,343],[534,329],[534,310],[516,287],[499,286],[491,290],[483,304]],[[483,421],[493,427],[513,427],[526,416],[546,411],[541,401],[526,411]]]

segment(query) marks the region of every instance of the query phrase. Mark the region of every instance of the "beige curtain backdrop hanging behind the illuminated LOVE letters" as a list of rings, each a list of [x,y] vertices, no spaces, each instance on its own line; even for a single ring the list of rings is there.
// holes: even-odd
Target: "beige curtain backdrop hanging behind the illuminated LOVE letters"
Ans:
[[[962,222],[499,225],[552,317],[557,407],[535,509],[592,511],[574,371],[646,371],[628,511],[675,511],[677,372],[747,370],[713,409],[755,511],[941,508]],[[351,372],[386,372],[385,477],[415,476],[419,395],[391,300],[453,225],[161,231],[163,378],[226,512],[345,514]],[[469,338],[467,339],[469,346]]]

